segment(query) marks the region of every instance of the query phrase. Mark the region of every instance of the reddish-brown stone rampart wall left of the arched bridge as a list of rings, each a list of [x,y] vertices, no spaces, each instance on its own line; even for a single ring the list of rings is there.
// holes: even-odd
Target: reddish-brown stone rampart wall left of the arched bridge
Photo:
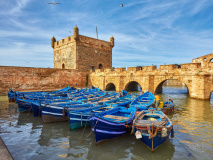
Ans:
[[[85,87],[86,75],[71,69],[0,66],[0,94],[7,94],[8,88],[15,91],[50,91],[67,86]]]

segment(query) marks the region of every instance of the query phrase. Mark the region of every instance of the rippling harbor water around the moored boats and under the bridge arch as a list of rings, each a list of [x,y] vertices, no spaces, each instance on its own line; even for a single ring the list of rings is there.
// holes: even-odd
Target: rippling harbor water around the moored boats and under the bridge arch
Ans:
[[[213,98],[192,99],[187,88],[167,86],[161,101],[172,99],[175,112],[168,117],[175,137],[151,152],[134,135],[95,145],[90,127],[71,131],[68,122],[46,123],[32,113],[19,113],[17,104],[0,97],[0,136],[14,159],[213,159]]]

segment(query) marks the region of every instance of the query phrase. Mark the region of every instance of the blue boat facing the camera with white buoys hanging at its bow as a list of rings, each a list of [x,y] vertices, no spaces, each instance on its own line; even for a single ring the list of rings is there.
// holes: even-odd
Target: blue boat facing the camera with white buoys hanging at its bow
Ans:
[[[151,151],[164,144],[169,135],[174,137],[171,120],[161,111],[144,110],[134,119],[132,132]]]

